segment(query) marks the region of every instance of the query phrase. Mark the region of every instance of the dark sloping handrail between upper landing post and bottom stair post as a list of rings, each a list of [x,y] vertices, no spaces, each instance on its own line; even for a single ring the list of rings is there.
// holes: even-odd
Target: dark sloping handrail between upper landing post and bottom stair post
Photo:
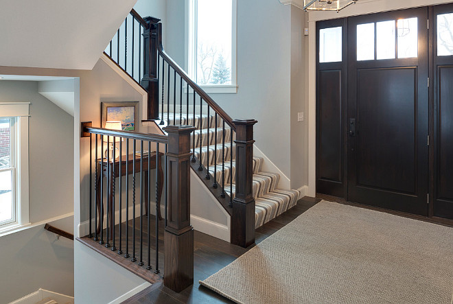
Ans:
[[[213,108],[214,111],[216,111],[216,113],[225,121],[228,126],[230,126],[233,130],[236,130],[236,126],[235,124],[233,124],[233,119],[231,119],[231,117],[222,108],[220,108],[220,106],[216,102],[214,102],[214,100],[205,92],[205,90],[201,89],[200,86],[196,84],[196,82],[191,80],[189,75],[187,75],[187,73],[183,69],[181,69],[181,67],[179,67],[179,65],[174,62],[174,60],[170,58],[167,53],[165,53],[162,45],[162,23],[157,24],[157,30],[159,33],[157,49],[159,51],[159,54],[161,54],[163,60],[165,60],[167,64],[170,65],[174,69],[174,71],[176,71],[176,73],[178,73],[178,75],[180,75],[181,78],[183,78],[183,80],[185,80],[185,82],[187,82],[187,84],[192,89],[194,89],[194,91],[200,97],[202,97],[202,99],[205,100],[205,102],[207,102],[207,104],[209,104],[211,108]]]

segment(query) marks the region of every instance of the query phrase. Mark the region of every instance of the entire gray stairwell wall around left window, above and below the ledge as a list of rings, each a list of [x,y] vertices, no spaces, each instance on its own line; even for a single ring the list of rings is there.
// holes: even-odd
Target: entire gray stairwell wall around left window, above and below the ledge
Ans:
[[[73,117],[38,93],[38,82],[0,81],[0,102],[31,102],[30,222],[73,212]],[[53,223],[73,231],[73,217]],[[73,242],[44,224],[0,237],[0,303],[44,288],[73,295]]]

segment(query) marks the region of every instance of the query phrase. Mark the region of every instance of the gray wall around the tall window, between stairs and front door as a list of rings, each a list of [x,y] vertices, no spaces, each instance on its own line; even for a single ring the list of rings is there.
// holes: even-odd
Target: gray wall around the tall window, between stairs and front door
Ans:
[[[167,1],[167,53],[185,65],[182,1]],[[171,7],[171,9],[170,9]],[[237,1],[237,93],[211,93],[233,118],[254,118],[257,147],[291,180],[307,185],[305,12],[276,0]]]

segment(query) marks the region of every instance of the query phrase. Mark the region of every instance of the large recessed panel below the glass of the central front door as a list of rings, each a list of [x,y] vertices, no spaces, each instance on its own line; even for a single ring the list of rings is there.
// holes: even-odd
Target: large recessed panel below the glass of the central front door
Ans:
[[[415,194],[417,69],[363,69],[357,75],[357,185]]]

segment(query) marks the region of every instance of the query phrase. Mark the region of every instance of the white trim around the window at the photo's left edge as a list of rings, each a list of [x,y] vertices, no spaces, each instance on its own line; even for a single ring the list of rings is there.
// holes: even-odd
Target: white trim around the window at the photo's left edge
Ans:
[[[1,117],[16,117],[14,121],[14,159],[16,159],[16,185],[13,185],[16,202],[16,221],[2,225],[0,233],[7,233],[30,226],[29,162],[28,162],[28,123],[30,102],[0,102]],[[19,177],[19,178],[17,178]]]

